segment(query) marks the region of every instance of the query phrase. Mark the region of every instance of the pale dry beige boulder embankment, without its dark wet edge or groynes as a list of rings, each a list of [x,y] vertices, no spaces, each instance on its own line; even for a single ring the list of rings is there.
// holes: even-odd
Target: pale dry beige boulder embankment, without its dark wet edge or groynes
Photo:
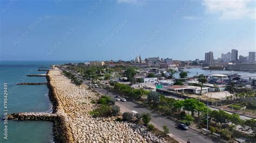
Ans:
[[[51,70],[48,75],[57,102],[56,115],[63,117],[71,142],[165,142],[151,133],[145,135],[146,130],[136,130],[131,123],[115,121],[114,117],[93,118],[89,112],[96,108],[91,103],[99,98],[95,92],[72,84],[59,70]]]

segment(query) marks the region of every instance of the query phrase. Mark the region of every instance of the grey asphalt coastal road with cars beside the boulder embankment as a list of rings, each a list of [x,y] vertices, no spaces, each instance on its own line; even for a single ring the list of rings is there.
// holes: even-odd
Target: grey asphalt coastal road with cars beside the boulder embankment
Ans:
[[[94,88],[97,92],[100,94],[106,95],[107,90],[103,88]],[[109,96],[115,97],[117,94],[113,94],[112,92],[108,92]],[[120,98],[123,98],[120,96]],[[212,138],[207,137],[206,135],[203,135],[201,133],[198,133],[192,129],[188,129],[186,131],[181,130],[177,127],[177,123],[175,123],[173,120],[167,119],[164,116],[159,115],[158,113],[151,111],[149,109],[146,109],[144,106],[136,104],[129,99],[127,99],[127,102],[116,102],[118,106],[120,106],[121,109],[128,109],[128,110],[135,110],[139,113],[149,112],[151,113],[151,122],[158,127],[162,127],[166,125],[170,129],[170,133],[174,135],[173,138],[176,138],[177,140],[182,140],[183,142],[186,142],[188,139],[191,140],[191,142],[216,142]]]

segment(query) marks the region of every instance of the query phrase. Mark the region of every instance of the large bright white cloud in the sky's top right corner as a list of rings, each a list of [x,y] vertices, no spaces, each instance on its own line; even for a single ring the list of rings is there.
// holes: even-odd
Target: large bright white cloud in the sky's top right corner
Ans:
[[[220,13],[220,19],[255,19],[254,0],[203,0],[208,13]]]

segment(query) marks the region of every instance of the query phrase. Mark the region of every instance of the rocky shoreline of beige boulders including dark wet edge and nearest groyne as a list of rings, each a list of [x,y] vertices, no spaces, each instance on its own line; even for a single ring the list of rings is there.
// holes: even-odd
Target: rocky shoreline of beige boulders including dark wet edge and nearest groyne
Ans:
[[[89,112],[97,105],[91,101],[99,96],[72,84],[60,70],[48,70],[46,80],[53,112],[15,113],[10,118],[53,121],[55,142],[166,142],[142,125],[119,122],[116,117],[93,118]]]

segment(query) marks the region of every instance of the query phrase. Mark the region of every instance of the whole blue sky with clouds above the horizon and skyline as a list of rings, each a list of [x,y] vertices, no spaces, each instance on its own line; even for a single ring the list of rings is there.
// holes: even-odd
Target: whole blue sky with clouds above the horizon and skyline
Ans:
[[[0,60],[204,60],[256,51],[254,0],[1,0]]]

